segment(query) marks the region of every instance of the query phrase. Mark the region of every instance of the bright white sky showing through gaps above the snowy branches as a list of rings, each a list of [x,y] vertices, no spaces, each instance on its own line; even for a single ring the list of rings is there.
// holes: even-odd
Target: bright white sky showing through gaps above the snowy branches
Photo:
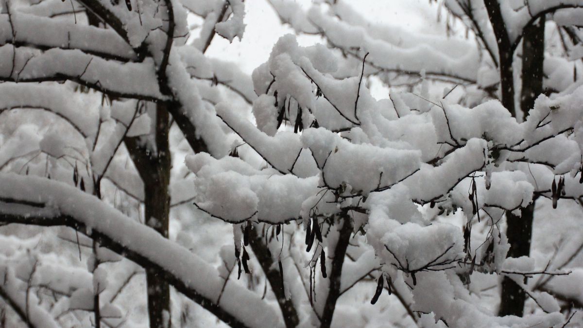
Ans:
[[[430,6],[429,0],[344,0],[350,3],[371,23],[399,25],[410,30],[424,30],[426,33],[443,33],[444,24],[437,23],[437,9]],[[309,8],[311,0],[296,0]],[[273,44],[287,33],[294,33],[282,26],[275,11],[267,0],[245,1],[245,33],[243,40],[237,38],[233,43],[215,36],[206,54],[238,62],[241,69],[251,74],[253,69],[269,58]],[[319,41],[318,37],[303,37],[300,44],[307,45]]]

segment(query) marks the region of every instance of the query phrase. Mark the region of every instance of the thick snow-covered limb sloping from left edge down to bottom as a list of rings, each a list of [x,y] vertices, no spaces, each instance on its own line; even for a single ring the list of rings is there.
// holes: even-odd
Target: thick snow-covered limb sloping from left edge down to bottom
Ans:
[[[37,225],[78,227],[117,253],[165,274],[178,291],[235,325],[280,326],[271,306],[237,284],[228,284],[221,303],[215,303],[223,285],[216,270],[184,247],[163,238],[89,194],[66,184],[11,173],[0,175],[2,220]],[[50,189],[51,193],[44,193]],[[24,215],[26,213],[26,215]],[[155,245],[155,246],[154,246]],[[243,303],[253,303],[253,313]],[[259,312],[255,310],[261,309]],[[258,315],[261,313],[261,315]]]

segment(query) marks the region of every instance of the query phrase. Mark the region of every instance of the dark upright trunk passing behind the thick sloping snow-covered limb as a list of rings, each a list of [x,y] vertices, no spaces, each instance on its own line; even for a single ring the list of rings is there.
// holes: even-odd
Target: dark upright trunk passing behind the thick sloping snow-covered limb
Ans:
[[[170,214],[170,146],[168,145],[168,104],[157,103],[156,149],[135,138],[126,138],[132,160],[144,183],[146,224],[168,238]],[[170,327],[170,287],[157,270],[146,268],[147,303],[150,327]]]

